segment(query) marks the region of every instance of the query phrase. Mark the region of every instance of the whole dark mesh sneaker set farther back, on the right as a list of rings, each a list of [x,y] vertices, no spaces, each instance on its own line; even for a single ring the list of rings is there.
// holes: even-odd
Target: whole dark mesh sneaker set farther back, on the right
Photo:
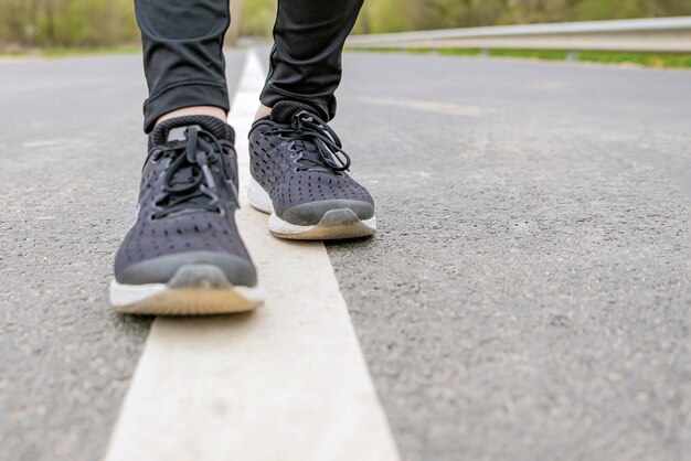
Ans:
[[[248,197],[270,213],[277,237],[337,239],[374,235],[374,201],[347,174],[341,141],[305,104],[280,101],[249,132]]]

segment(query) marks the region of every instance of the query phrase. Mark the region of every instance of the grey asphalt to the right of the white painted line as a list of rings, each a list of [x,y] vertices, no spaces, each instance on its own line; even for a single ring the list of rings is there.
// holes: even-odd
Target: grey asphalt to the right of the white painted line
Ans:
[[[691,73],[348,54],[329,244],[406,460],[691,453]]]

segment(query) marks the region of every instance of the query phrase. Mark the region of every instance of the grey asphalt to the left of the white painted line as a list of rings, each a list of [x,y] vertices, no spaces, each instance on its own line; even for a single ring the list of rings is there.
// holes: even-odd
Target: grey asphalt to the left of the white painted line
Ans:
[[[237,81],[244,55],[228,53]],[[0,459],[96,460],[151,323],[107,304],[146,158],[141,56],[0,64]]]

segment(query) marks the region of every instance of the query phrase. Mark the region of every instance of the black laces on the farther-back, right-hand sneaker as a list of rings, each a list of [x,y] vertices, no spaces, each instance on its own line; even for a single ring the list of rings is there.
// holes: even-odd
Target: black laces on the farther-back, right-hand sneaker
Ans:
[[[291,141],[290,149],[298,154],[298,171],[326,169],[341,172],[350,168],[350,157],[336,131],[307,110],[298,112],[289,125],[275,125],[268,133]]]

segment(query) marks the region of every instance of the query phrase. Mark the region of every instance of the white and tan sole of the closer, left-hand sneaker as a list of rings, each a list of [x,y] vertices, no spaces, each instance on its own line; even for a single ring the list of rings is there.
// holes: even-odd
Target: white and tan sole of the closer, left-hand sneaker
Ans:
[[[116,311],[146,315],[213,315],[248,312],[264,304],[264,290],[235,287],[210,265],[182,266],[168,283],[110,283]]]

